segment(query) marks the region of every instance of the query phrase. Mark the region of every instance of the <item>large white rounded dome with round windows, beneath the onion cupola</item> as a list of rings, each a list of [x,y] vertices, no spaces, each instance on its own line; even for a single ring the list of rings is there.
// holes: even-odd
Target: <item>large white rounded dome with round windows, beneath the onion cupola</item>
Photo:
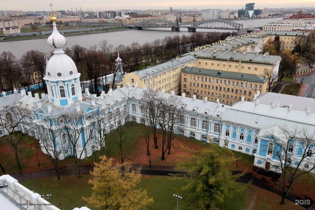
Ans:
[[[48,81],[60,81],[71,80],[80,76],[77,71],[77,67],[73,60],[62,49],[59,49],[61,53],[57,53],[57,49],[54,55],[49,59],[46,65],[45,80]]]

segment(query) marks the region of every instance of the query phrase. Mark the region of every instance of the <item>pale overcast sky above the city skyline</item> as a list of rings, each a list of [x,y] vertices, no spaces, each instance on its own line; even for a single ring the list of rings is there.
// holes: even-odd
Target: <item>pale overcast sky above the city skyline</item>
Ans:
[[[0,10],[48,11],[50,0],[1,0]],[[257,8],[312,7],[315,0],[53,0],[54,10],[119,10],[119,9],[241,9],[245,3],[255,2]]]

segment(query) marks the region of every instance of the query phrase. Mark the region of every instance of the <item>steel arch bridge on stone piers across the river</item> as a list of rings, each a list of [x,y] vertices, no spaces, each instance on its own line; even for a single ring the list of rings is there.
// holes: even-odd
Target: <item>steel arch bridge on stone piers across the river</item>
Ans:
[[[179,20],[176,22],[163,20],[163,19],[151,19],[144,20],[136,23],[134,26],[126,26],[127,28],[135,28],[141,30],[143,28],[155,28],[155,27],[166,27],[171,28],[172,31],[179,31],[180,28],[188,28],[189,32],[195,32],[197,28],[204,29],[224,29],[224,30],[235,30],[239,31],[243,28],[243,24],[237,23],[231,20],[203,20],[192,23],[180,23]]]

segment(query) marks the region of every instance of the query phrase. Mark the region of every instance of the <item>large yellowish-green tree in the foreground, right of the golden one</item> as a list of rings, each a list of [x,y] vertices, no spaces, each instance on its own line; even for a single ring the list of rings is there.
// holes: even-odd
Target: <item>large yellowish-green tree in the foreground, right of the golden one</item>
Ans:
[[[217,209],[217,204],[240,189],[235,180],[242,174],[233,175],[229,167],[236,158],[231,150],[213,143],[201,151],[188,151],[191,155],[183,156],[176,167],[187,171],[184,174],[187,184],[181,188],[186,194],[187,208],[194,209],[190,205],[195,203],[198,209]]]

